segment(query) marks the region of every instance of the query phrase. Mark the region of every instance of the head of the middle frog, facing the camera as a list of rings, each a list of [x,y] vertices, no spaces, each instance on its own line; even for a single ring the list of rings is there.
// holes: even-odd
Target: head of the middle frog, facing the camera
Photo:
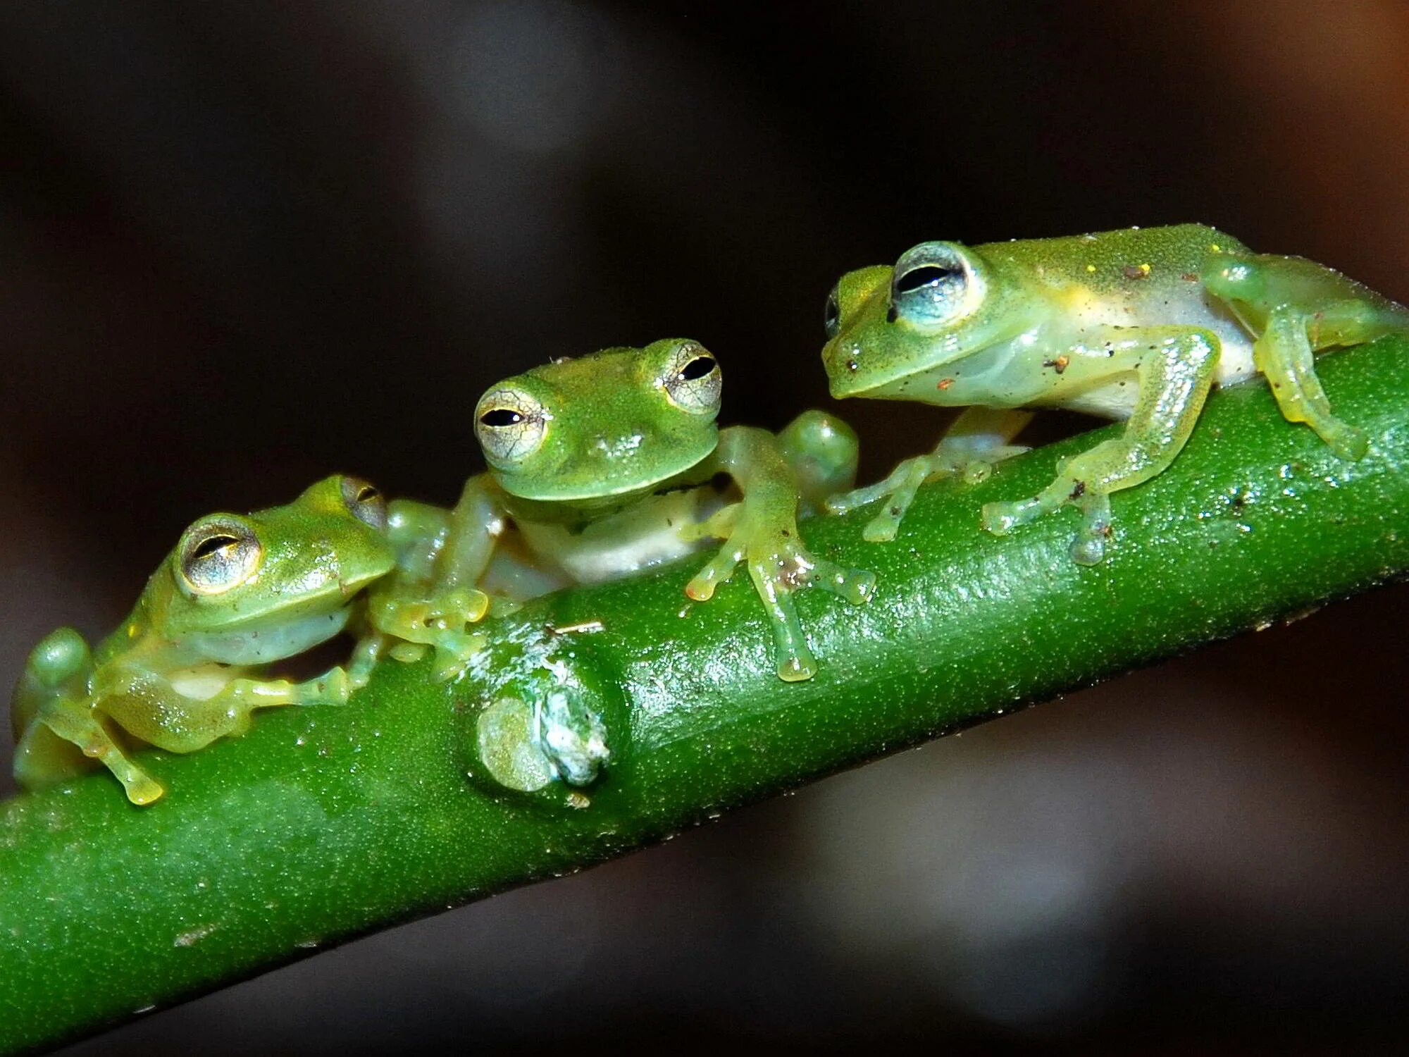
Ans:
[[[621,499],[714,451],[720,386],[719,361],[697,341],[607,348],[492,386],[475,409],[475,435],[511,496]]]

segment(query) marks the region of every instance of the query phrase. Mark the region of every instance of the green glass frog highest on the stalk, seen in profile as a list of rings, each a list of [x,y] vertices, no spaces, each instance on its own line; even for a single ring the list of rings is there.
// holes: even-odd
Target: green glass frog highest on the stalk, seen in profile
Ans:
[[[938,447],[828,502],[885,499],[865,537],[895,538],[929,478],[981,478],[1030,419],[1068,407],[1124,433],[1065,462],[1038,495],[983,507],[1006,534],[1064,505],[1082,513],[1072,558],[1096,564],[1110,493],[1168,466],[1213,385],[1264,375],[1289,421],[1341,458],[1363,431],[1330,412],[1313,354],[1409,330],[1409,311],[1299,256],[1254,254],[1202,224],[964,247],[921,242],[893,266],[848,272],[827,302],[821,358],[837,397],[965,406]]]

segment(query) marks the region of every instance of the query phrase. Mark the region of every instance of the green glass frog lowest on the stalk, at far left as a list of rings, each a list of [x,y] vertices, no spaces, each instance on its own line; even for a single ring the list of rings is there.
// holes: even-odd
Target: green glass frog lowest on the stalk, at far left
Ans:
[[[248,730],[254,709],[345,703],[369,661],[306,682],[261,669],[338,634],[358,592],[392,567],[386,502],[358,478],[325,478],[286,506],[201,517],[97,650],[61,627],[30,654],[11,699],[15,781],[38,789],[96,760],[132,803],[151,803],[163,789],[113,726],[192,753]]]

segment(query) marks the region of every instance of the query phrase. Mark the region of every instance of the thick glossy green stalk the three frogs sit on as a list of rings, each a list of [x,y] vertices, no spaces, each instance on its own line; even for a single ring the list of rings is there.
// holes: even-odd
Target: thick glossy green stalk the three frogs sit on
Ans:
[[[1265,388],[1212,400],[1175,466],[1115,502],[1082,568],[1062,512],[995,538],[978,507],[1033,493],[1088,434],[937,485],[893,544],[868,512],[813,520],[819,552],[878,572],[865,607],[805,592],[821,672],[783,684],[744,576],[704,605],[690,568],[548,596],[489,624],[452,685],[383,665],[342,709],[261,716],[238,741],[152,753],[168,798],[94,775],[0,813],[0,1049],[58,1040],[317,947],[561,875],[721,810],[1409,569],[1409,342],[1330,357],[1337,412],[1374,437],[1333,457]],[[575,629],[575,630],[573,630]],[[513,793],[479,755],[482,706],[566,691],[610,765]],[[500,762],[500,767],[503,764]],[[585,793],[585,795],[583,795]],[[483,953],[466,953],[482,957]]]

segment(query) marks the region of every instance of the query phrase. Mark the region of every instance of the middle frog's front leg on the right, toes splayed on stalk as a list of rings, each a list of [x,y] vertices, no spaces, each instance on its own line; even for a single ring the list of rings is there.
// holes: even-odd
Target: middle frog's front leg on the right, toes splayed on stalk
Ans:
[[[797,533],[797,483],[778,438],[766,430],[734,426],[720,433],[719,447],[702,466],[706,476],[727,472],[744,493],[683,538],[724,537],[714,558],[685,588],[697,602],[713,596],[740,562],[748,565],[758,598],[768,612],[776,645],[778,675],[788,682],[810,679],[817,661],[797,620],[792,592],[817,586],[852,603],[875,591],[875,575],[817,558]]]

